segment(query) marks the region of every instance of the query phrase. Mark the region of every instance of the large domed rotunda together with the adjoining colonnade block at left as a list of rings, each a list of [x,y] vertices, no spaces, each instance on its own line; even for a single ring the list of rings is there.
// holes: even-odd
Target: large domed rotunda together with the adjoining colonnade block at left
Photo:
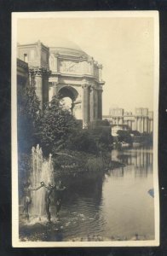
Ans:
[[[75,44],[46,47],[18,44],[18,58],[28,64],[30,84],[35,84],[37,96],[43,104],[52,96],[70,97],[72,114],[89,122],[102,119],[102,65]]]

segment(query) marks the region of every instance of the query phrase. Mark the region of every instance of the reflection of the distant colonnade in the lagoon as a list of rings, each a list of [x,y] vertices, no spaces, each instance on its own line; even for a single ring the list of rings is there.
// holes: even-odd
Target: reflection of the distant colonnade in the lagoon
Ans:
[[[112,160],[120,161],[125,166],[112,170],[114,177],[124,177],[125,169],[135,172],[135,177],[147,177],[149,172],[153,172],[153,148],[114,149]]]

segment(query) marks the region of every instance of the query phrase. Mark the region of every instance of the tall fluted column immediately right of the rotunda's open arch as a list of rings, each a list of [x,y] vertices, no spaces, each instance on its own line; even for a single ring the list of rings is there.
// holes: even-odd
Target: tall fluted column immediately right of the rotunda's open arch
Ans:
[[[83,113],[83,128],[88,128],[89,123],[89,84],[83,84],[83,99],[82,99],[82,113]]]

